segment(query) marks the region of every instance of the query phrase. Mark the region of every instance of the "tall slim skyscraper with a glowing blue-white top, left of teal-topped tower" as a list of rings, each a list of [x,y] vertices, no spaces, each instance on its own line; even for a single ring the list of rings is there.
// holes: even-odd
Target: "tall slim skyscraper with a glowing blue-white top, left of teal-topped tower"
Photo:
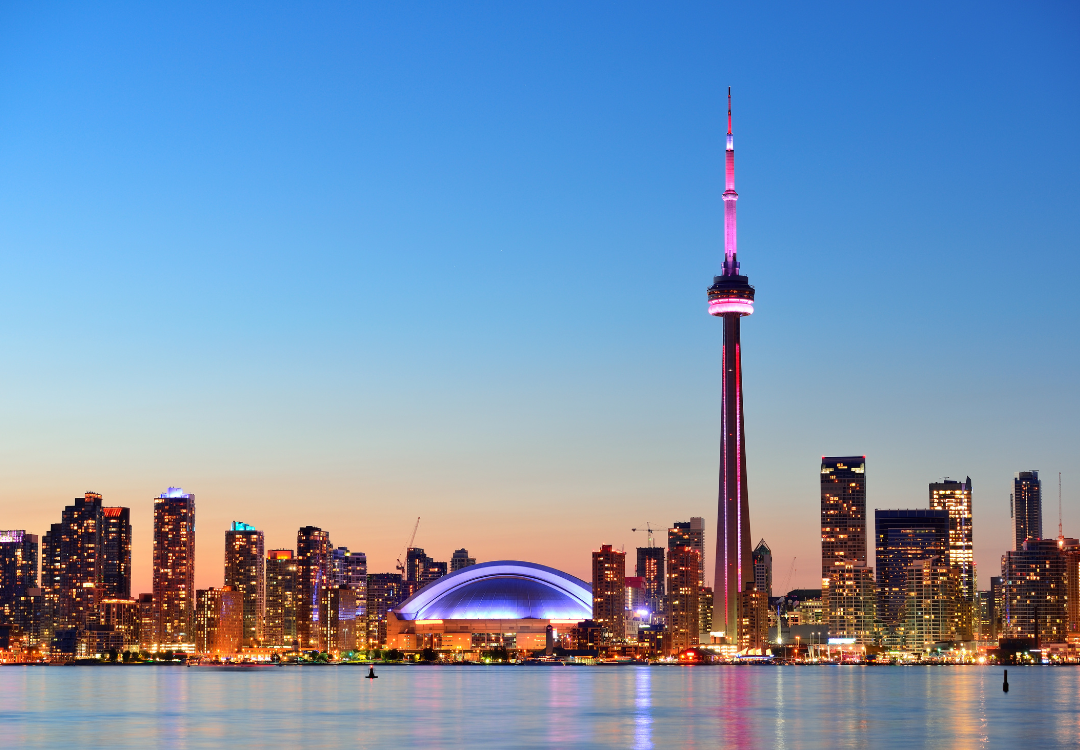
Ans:
[[[194,643],[195,496],[180,487],[153,499],[153,603],[159,643]]]

